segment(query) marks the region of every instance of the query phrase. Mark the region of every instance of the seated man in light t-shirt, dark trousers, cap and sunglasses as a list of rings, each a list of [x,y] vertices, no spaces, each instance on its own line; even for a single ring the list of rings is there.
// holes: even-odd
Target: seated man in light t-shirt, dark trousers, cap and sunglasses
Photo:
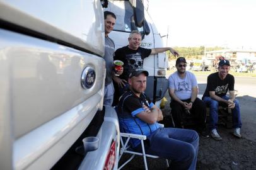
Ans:
[[[192,72],[186,71],[187,62],[184,57],[179,57],[175,66],[177,71],[168,79],[175,127],[182,128],[183,113],[192,114],[196,118],[195,123],[201,136],[207,138],[209,135],[206,128],[206,106],[197,98],[197,79]]]

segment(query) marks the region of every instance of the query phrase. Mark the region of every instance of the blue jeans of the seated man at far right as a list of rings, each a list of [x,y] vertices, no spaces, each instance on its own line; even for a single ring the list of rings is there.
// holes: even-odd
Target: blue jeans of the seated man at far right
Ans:
[[[228,96],[221,97],[223,99],[230,99]],[[219,107],[219,101],[216,101],[212,99],[211,97],[204,97],[204,103],[206,103],[207,106],[210,107],[210,122],[209,122],[209,128],[210,130],[217,128],[218,123],[218,107]],[[241,128],[241,116],[240,116],[240,106],[237,99],[234,101],[235,108],[232,109],[232,122],[233,122],[233,128]]]

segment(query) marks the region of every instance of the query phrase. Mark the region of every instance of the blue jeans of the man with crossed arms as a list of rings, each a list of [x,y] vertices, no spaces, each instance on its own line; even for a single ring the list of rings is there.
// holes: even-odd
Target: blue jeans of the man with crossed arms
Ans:
[[[194,130],[158,128],[147,139],[148,153],[172,160],[171,169],[195,169],[199,136]]]

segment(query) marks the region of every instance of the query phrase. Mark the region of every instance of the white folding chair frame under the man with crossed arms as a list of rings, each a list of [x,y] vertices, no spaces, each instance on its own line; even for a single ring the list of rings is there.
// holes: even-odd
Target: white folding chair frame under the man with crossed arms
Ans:
[[[142,153],[136,152],[135,150],[133,150],[131,148],[131,146],[129,144],[130,139],[141,140],[141,147],[142,147],[142,151],[143,151]],[[135,155],[143,156],[144,166],[145,166],[146,170],[148,170],[148,164],[147,164],[146,157],[159,158],[158,156],[146,154],[145,149],[144,149],[143,140],[146,140],[146,135],[137,135],[137,134],[132,134],[132,133],[120,133],[121,149],[120,149],[120,154],[119,154],[119,161],[124,153],[132,154],[132,156],[126,162],[124,162],[124,164],[122,164],[118,169],[122,169],[122,167],[124,167],[128,162],[132,161],[132,159],[134,158]],[[168,159],[166,159],[166,166],[169,167]]]

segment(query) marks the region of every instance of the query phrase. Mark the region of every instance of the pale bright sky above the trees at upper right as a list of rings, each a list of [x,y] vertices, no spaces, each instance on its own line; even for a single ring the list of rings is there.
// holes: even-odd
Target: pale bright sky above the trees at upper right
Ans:
[[[255,8],[255,0],[149,0],[148,11],[167,46],[256,49]]]

